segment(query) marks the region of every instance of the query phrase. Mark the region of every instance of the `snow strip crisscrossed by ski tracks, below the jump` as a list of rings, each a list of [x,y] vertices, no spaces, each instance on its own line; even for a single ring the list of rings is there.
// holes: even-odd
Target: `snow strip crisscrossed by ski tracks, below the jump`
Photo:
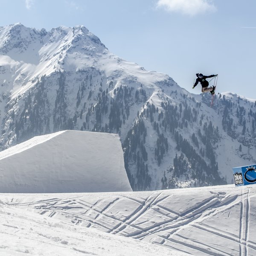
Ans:
[[[6,194],[8,207],[131,237],[196,256],[255,256],[249,236],[256,186],[154,192]]]

